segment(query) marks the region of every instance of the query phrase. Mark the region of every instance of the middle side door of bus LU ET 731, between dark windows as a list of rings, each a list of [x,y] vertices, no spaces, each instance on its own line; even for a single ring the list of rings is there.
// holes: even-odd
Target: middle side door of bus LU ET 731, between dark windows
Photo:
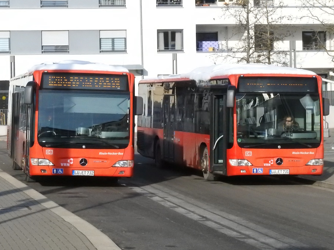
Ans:
[[[174,115],[175,115],[174,95],[164,96],[163,114],[164,114],[163,159],[174,161]]]

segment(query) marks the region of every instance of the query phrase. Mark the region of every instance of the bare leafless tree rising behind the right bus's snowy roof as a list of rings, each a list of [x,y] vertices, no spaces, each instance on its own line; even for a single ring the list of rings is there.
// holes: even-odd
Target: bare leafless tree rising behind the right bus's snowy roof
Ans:
[[[282,48],[282,44],[291,35],[287,30],[289,25],[284,24],[291,17],[282,14],[283,8],[282,1],[276,1],[274,6],[273,0],[238,0],[234,6],[222,7],[222,17],[235,21],[226,41],[238,41],[227,46],[227,53],[218,51],[216,58],[222,56],[227,61],[232,57],[237,62],[287,66],[289,49]]]

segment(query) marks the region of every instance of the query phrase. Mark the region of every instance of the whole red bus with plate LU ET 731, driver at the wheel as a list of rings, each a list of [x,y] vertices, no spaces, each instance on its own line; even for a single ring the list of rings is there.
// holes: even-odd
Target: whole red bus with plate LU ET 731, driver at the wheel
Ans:
[[[260,64],[200,67],[139,81],[144,110],[137,148],[166,162],[219,175],[320,175],[322,79],[314,72]],[[282,126],[294,119],[294,128]],[[298,126],[297,126],[298,125]]]

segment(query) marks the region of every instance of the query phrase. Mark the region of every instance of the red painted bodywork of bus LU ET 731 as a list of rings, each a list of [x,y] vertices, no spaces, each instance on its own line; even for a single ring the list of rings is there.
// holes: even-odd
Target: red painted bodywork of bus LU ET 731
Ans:
[[[313,75],[293,75],[293,74],[244,74],[243,76],[298,76],[298,77],[314,77]],[[315,75],[318,82],[318,89],[320,100],[322,98],[322,80],[321,77]],[[230,80],[231,85],[237,87],[238,78],[240,75],[225,75],[215,76],[214,79],[226,79]],[[163,84],[163,83],[178,83],[192,81],[186,78],[165,78],[165,79],[148,79],[141,80],[139,84]],[[321,109],[321,129],[323,128],[323,105],[320,101]],[[322,165],[306,165],[312,159],[324,158],[324,146],[323,146],[323,132],[321,133],[321,142],[318,148],[302,148],[302,149],[261,149],[261,148],[240,148],[236,141],[236,107],[233,111],[233,146],[226,150],[226,170],[227,176],[233,175],[269,175],[270,169],[289,169],[290,175],[321,175],[323,173]],[[163,144],[164,136],[163,129],[138,127],[138,132],[142,132],[147,136],[149,141],[145,142],[145,146],[149,147],[150,153],[141,153],[144,156],[154,158],[154,145],[159,140],[160,145]],[[210,154],[210,136],[205,134],[189,133],[189,132],[174,132],[174,163],[182,164],[188,167],[201,169],[200,165],[200,148],[201,145],[205,145],[208,148]],[[163,149],[161,149],[163,150]],[[278,166],[275,164],[277,158],[282,158],[283,164]],[[252,163],[252,166],[231,166],[229,159],[246,159]],[[263,168],[262,173],[253,173],[253,168]],[[246,172],[242,173],[241,170]],[[313,170],[313,172],[312,172]]]

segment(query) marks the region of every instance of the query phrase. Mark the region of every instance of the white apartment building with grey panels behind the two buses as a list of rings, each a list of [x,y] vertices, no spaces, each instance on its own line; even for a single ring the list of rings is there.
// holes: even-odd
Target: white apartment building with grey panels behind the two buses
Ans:
[[[234,62],[233,55],[244,55],[237,48],[245,32],[237,30],[239,24],[227,15],[226,6],[237,11],[243,2],[0,0],[0,81],[46,61],[122,65],[136,75],[137,82],[143,77]],[[334,35],[311,15],[323,17],[324,10],[331,10],[324,5],[334,6],[333,0],[284,0],[283,4],[252,0],[252,5],[274,6],[275,16],[291,17],[275,24],[284,35],[274,42],[284,52],[281,61],[331,80]],[[327,17],[334,23],[334,15]],[[332,107],[333,88],[324,82]],[[331,111],[326,126],[334,128],[334,108]]]

